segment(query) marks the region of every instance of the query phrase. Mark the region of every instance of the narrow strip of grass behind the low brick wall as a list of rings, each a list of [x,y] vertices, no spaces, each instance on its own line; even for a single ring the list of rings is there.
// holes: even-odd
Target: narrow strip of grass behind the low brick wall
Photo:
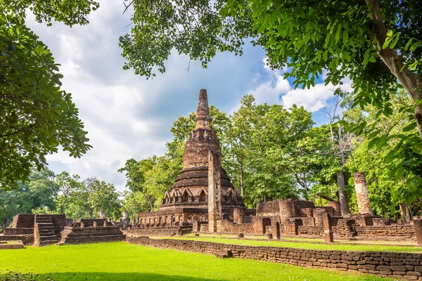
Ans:
[[[394,245],[379,245],[379,244],[313,244],[313,243],[298,243],[288,241],[275,240],[244,240],[244,239],[229,239],[221,237],[151,237],[151,238],[167,238],[167,239],[181,239],[181,240],[199,240],[207,242],[216,242],[224,244],[238,244],[244,246],[270,246],[270,247],[288,247],[298,249],[317,249],[317,250],[344,250],[344,251],[400,251],[408,253],[422,253],[422,247],[410,246],[394,246]]]

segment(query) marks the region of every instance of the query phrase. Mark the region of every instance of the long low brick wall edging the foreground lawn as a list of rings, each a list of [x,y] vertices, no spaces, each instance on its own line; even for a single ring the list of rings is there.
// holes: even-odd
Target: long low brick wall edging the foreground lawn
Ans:
[[[193,240],[150,239],[149,237],[127,237],[126,241],[130,244],[212,255],[219,254],[222,250],[230,250],[235,258],[241,259],[257,259],[295,266],[333,268],[358,273],[422,280],[422,254],[388,251],[323,251],[281,247],[254,247]]]

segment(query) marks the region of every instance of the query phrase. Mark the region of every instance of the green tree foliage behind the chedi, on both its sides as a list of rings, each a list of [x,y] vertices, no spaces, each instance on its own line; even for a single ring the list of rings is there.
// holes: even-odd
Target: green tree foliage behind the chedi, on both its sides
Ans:
[[[222,147],[223,167],[241,188],[248,207],[300,194],[307,198],[314,185],[327,185],[327,178],[335,175],[328,129],[312,128],[312,115],[303,107],[286,110],[281,105],[257,105],[253,96],[245,96],[232,115],[211,106],[210,116]],[[165,156],[139,162],[129,159],[119,170],[127,176],[127,187],[141,192],[151,211],[179,174],[195,117],[191,113],[173,123],[174,138],[167,143]]]

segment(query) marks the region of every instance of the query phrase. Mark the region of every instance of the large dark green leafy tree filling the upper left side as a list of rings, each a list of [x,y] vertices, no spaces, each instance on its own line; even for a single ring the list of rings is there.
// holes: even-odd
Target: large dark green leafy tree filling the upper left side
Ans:
[[[38,22],[84,25],[98,8],[95,1],[0,1],[0,183],[18,187],[32,165],[46,166],[45,156],[58,146],[81,157],[87,144],[84,125],[70,93],[60,90],[58,65],[49,49],[25,25],[28,9]]]

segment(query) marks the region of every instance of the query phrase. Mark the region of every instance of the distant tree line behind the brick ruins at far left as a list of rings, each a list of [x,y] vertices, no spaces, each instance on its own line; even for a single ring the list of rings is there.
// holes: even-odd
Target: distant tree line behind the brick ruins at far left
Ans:
[[[98,218],[99,211],[117,219],[122,200],[114,185],[97,178],[81,181],[67,171],[32,168],[27,181],[18,181],[17,190],[0,188],[0,228],[8,226],[16,214],[65,214],[67,218]]]

